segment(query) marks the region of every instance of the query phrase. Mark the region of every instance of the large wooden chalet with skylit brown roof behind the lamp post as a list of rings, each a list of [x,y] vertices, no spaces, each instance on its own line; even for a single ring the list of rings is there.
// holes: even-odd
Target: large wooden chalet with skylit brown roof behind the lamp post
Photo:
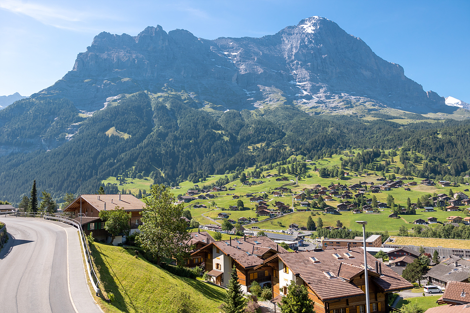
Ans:
[[[290,281],[304,285],[317,313],[365,312],[362,248],[279,253],[258,269],[271,268],[273,296],[287,295]],[[371,312],[386,312],[388,296],[413,285],[369,254],[367,267]],[[269,271],[269,269],[268,269]]]

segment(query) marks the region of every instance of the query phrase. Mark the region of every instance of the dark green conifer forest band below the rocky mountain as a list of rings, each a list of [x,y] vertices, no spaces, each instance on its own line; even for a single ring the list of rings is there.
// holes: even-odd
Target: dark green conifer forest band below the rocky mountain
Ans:
[[[402,125],[383,117],[388,120],[310,116],[289,105],[210,113],[175,96],[149,98],[140,92],[84,118],[64,99],[25,99],[0,111],[0,144],[13,151],[0,157],[1,199],[18,202],[34,179],[38,190],[58,198],[79,191],[80,180],[81,193],[94,193],[101,180],[129,171],[154,172],[155,183],[178,183],[193,173],[223,174],[291,155],[315,159],[350,148],[403,147],[424,155],[422,171],[413,166],[411,153],[403,156],[407,174],[470,174],[469,121]],[[64,129],[71,124],[78,133],[67,140]],[[108,136],[112,127],[130,137]],[[45,152],[35,140],[49,140],[53,149]],[[36,149],[24,153],[21,147]],[[364,157],[364,164],[374,159]]]

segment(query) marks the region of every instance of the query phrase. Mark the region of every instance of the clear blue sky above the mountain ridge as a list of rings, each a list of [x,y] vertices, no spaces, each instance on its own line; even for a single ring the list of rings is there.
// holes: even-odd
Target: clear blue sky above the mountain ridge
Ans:
[[[205,39],[260,37],[310,16],[360,37],[425,91],[470,103],[468,0],[0,0],[0,95],[51,86],[102,31],[161,25]]]

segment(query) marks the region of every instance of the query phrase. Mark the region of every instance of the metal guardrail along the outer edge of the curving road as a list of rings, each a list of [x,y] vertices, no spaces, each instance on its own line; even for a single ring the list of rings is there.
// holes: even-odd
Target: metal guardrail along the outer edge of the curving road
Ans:
[[[85,255],[85,258],[86,258],[88,277],[90,278],[90,282],[91,282],[91,285],[93,286],[93,290],[95,291],[96,296],[99,296],[100,289],[98,286],[100,285],[100,281],[98,279],[98,276],[96,275],[95,270],[93,269],[93,264],[91,262],[91,257],[90,257],[90,251],[88,250],[88,246],[87,246],[87,238],[85,236],[85,233],[83,232],[83,229],[80,223],[65,216],[60,216],[60,215],[55,215],[55,214],[50,214],[50,213],[43,213],[43,212],[37,212],[37,213],[14,212],[14,215],[19,216],[19,217],[33,217],[33,218],[39,217],[45,220],[55,220],[55,221],[65,223],[67,225],[72,225],[78,228],[78,231],[80,233],[80,242],[82,243],[83,254]]]

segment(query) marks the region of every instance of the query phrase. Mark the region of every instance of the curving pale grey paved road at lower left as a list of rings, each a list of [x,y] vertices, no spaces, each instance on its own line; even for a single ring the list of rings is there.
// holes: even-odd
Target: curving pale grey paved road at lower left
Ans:
[[[77,231],[39,218],[1,217],[0,308],[8,313],[100,313],[87,285]]]

